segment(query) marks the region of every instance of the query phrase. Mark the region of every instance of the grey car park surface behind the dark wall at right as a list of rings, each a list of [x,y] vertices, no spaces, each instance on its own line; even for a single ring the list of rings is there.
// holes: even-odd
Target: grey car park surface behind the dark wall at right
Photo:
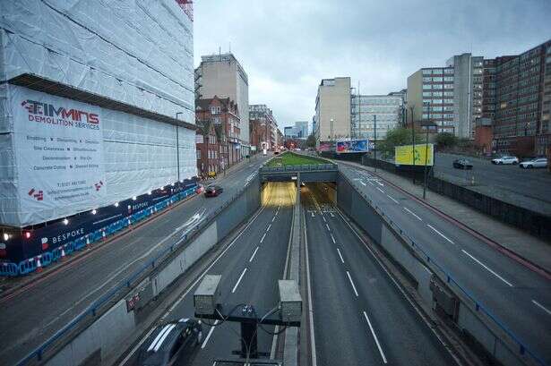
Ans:
[[[467,158],[472,170],[455,169],[456,158]],[[481,157],[437,153],[435,176],[526,209],[551,216],[551,173],[547,169],[496,166]],[[474,184],[472,184],[474,178]]]

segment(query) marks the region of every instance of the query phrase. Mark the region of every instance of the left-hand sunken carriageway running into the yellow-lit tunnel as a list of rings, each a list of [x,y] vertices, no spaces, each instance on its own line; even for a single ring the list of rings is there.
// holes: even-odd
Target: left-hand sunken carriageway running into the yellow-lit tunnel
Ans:
[[[207,271],[221,275],[221,302],[225,304],[252,304],[255,309],[271,310],[279,302],[278,280],[288,255],[289,234],[295,186],[293,183],[268,183],[263,209],[230,244],[231,247]],[[164,319],[194,316],[195,285],[180,297]],[[273,327],[265,327],[270,332]],[[181,365],[208,365],[214,359],[237,356],[240,350],[240,328],[237,323],[224,322],[216,327],[203,323],[203,342],[193,360],[182,360]],[[271,353],[273,336],[259,329],[259,352]],[[127,365],[132,365],[131,357]]]

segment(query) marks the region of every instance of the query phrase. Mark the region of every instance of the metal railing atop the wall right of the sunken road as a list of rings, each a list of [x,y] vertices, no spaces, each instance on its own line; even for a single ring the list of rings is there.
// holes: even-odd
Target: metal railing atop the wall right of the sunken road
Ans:
[[[414,251],[418,251],[421,255],[420,257],[426,262],[424,263],[426,265],[427,268],[431,268],[431,270],[433,271],[433,273],[437,273],[439,276],[438,277],[441,277],[443,279],[443,282],[445,282],[446,284],[448,285],[453,285],[455,288],[457,288],[461,294],[461,296],[465,297],[466,299],[469,300],[469,302],[472,302],[472,304],[474,305],[474,310],[475,312],[480,312],[482,314],[484,314],[486,316],[486,319],[488,319],[495,328],[499,328],[502,332],[504,332],[505,335],[507,335],[509,337],[509,339],[512,341],[512,343],[514,345],[517,346],[517,350],[516,352],[521,355],[521,356],[525,356],[525,355],[529,355],[529,358],[531,358],[532,361],[538,363],[539,365],[542,365],[542,366],[547,366],[547,363],[543,360],[543,358],[541,358],[537,353],[534,353],[529,347],[528,345],[526,345],[519,336],[517,336],[515,333],[512,332],[511,329],[509,329],[506,325],[504,325],[504,323],[497,317],[495,316],[495,314],[490,311],[489,309],[486,308],[486,306],[484,305],[483,302],[480,302],[475,296],[474,294],[471,294],[469,289],[467,288],[464,288],[463,286],[461,286],[455,279],[455,276],[452,275],[451,272],[449,272],[446,268],[444,268],[444,266],[439,263],[438,261],[436,261],[434,259],[434,257],[431,256],[430,253],[428,253],[425,248],[424,248],[424,245],[422,243],[417,243],[415,242],[411,237],[409,237],[408,234],[405,234],[406,233],[406,230],[402,229],[400,226],[398,226],[394,221],[392,221],[389,217],[385,216],[384,215],[384,212],[381,208],[377,207],[374,202],[372,200],[370,200],[369,198],[367,198],[366,194],[365,193],[362,193],[360,190],[359,190],[359,187],[357,186],[356,183],[353,183],[349,177],[347,177],[346,175],[344,174],[340,174],[340,176],[344,179],[344,181],[346,181],[346,183],[349,184],[350,187],[353,187],[355,189],[355,191],[361,195],[364,200],[366,200],[366,202],[369,204],[369,206],[371,206],[373,209],[375,209],[375,212],[383,218],[383,221],[390,227],[392,227],[392,229],[400,235],[400,237],[402,238],[402,240],[406,243],[409,243],[409,245],[411,246],[411,248],[414,250]],[[463,301],[461,301],[463,302]],[[468,306],[469,308],[469,306]],[[486,328],[488,326],[486,325]],[[492,333],[496,338],[499,339],[498,336],[495,335],[494,331],[491,329],[491,328],[488,328],[488,330],[490,331],[490,333]],[[503,341],[502,341],[503,342]],[[495,351],[495,350],[494,350]]]

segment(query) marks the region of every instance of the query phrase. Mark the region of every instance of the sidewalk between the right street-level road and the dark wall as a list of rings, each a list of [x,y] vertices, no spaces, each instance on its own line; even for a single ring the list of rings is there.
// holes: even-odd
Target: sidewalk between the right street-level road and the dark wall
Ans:
[[[372,173],[375,172],[375,168],[371,166],[362,166],[358,163],[343,162],[341,160],[334,160],[334,162],[357,166]],[[408,178],[381,169],[378,169],[376,174],[422,200],[422,185],[414,185]],[[551,271],[551,245],[548,243],[435,192],[427,190],[425,201],[435,209],[439,209],[447,216],[461,222],[461,224],[484,234],[484,236],[504,246],[507,250],[520,255],[541,268],[547,269],[547,271]]]

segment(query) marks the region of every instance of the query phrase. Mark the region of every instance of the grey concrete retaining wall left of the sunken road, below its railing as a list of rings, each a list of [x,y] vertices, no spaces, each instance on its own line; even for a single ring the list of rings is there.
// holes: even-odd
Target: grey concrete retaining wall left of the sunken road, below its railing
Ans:
[[[74,336],[46,364],[48,366],[99,364],[111,353],[120,352],[118,345],[137,331],[136,311],[149,302],[153,296],[159,295],[177,277],[182,276],[185,270],[200,260],[207,251],[211,250],[216,243],[231,233],[247,217],[253,215],[256,209],[260,208],[260,203],[261,183],[259,176],[256,175],[245,187],[244,192],[238,193],[234,200],[228,202],[220,212],[210,217],[210,221],[198,229],[198,234],[194,235],[187,243],[183,243],[179,253],[130,291],[127,298],[135,294],[140,297],[133,310],[127,311],[125,299],[116,302],[90,327]]]

